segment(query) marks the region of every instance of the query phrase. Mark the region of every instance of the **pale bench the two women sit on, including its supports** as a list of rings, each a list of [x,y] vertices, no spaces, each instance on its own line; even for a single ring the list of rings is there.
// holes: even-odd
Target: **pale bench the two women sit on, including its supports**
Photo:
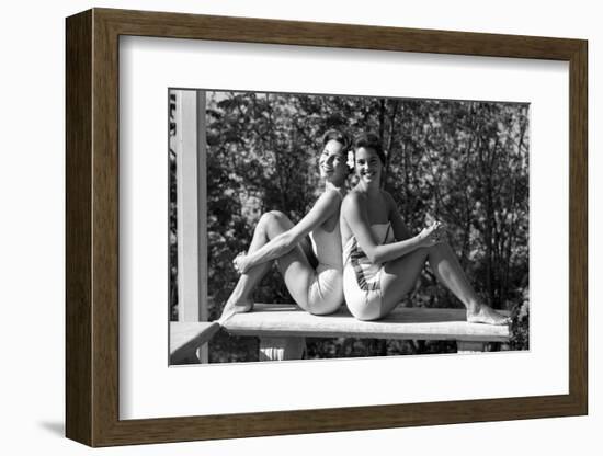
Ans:
[[[172,322],[170,353],[198,346],[207,340],[207,322]],[[215,330],[215,328],[213,328]],[[481,352],[488,342],[509,342],[509,326],[469,323],[464,309],[399,307],[377,321],[360,321],[345,307],[328,316],[314,316],[295,305],[255,304],[250,312],[237,314],[224,329],[232,335],[260,338],[260,360],[298,360],[306,338],[356,338],[456,341],[459,353]],[[197,345],[195,345],[197,344]]]

